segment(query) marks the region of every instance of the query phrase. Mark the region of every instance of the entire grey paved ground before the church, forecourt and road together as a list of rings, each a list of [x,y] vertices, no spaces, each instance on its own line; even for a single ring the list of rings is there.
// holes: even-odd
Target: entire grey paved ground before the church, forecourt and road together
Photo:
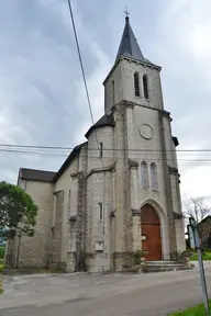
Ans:
[[[207,278],[210,285],[210,268]],[[197,269],[140,275],[25,275],[7,281],[0,315],[164,316],[200,301]]]

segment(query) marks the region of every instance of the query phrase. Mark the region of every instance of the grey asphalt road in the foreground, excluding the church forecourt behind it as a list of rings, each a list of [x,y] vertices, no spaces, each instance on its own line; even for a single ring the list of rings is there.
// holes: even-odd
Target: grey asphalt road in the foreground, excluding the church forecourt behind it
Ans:
[[[185,274],[184,274],[185,275]],[[176,275],[175,275],[176,276]],[[202,301],[199,276],[99,297],[80,296],[60,304],[1,309],[0,316],[165,316]],[[211,293],[211,275],[207,275]],[[24,301],[24,297],[23,297]],[[23,303],[24,304],[24,303]]]

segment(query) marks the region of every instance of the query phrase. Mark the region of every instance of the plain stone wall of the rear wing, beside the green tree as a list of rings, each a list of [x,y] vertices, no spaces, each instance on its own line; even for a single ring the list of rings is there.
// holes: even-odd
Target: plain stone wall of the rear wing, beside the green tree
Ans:
[[[23,236],[14,238],[9,241],[10,262],[15,268],[44,268],[48,267],[48,232],[49,232],[49,216],[53,213],[53,184],[38,181],[20,181],[20,185],[25,187],[34,202],[38,206],[38,214],[36,218],[35,235],[34,237]],[[18,245],[20,242],[20,255],[18,256]]]

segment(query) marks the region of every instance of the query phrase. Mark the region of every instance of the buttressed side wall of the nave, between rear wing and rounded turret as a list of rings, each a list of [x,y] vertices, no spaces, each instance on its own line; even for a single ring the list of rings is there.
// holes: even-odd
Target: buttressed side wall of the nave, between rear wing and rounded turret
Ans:
[[[62,244],[60,266],[67,272],[80,270],[81,257],[86,248],[86,170],[87,145],[70,162],[55,183],[56,191],[64,192],[63,211],[60,213]]]

